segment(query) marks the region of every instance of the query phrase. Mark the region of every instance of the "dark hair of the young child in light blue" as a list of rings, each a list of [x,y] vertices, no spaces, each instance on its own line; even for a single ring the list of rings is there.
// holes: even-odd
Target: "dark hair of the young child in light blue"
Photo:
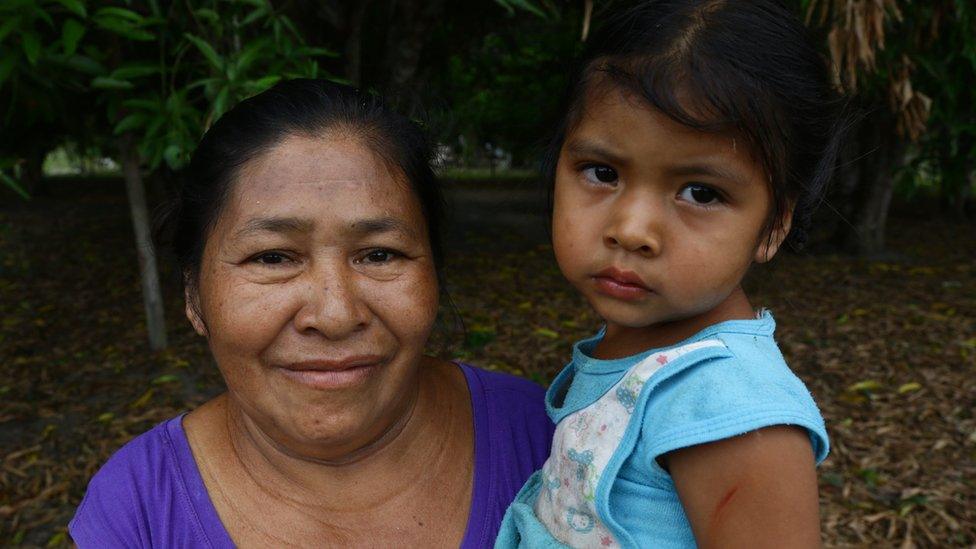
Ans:
[[[826,61],[781,2],[640,2],[598,30],[573,81],[543,159],[550,191],[560,149],[587,97],[616,88],[686,126],[743,137],[773,194],[764,233],[771,237],[792,206],[787,242],[794,248],[805,242],[840,152],[844,107]]]

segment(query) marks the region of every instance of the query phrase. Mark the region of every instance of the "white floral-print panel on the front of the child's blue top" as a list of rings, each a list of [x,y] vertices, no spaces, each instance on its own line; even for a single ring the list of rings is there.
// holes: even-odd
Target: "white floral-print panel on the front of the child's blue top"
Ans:
[[[535,516],[553,537],[572,547],[619,547],[597,513],[596,490],[644,385],[682,355],[724,346],[720,340],[708,339],[653,354],[635,364],[596,402],[559,422],[535,502]]]

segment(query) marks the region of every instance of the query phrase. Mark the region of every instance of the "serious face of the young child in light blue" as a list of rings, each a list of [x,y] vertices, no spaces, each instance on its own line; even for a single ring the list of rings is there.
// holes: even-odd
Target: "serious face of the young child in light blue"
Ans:
[[[767,249],[763,231],[770,209],[743,143],[610,91],[588,99],[560,152],[553,247],[608,336],[694,324],[730,299],[752,261],[775,253],[782,233]]]

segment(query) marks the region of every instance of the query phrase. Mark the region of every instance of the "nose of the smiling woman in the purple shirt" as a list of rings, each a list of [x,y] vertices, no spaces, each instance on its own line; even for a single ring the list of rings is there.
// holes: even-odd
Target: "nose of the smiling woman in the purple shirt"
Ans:
[[[310,276],[302,308],[295,315],[299,332],[318,332],[327,339],[344,339],[369,324],[369,307],[355,284],[352,269],[328,269]]]

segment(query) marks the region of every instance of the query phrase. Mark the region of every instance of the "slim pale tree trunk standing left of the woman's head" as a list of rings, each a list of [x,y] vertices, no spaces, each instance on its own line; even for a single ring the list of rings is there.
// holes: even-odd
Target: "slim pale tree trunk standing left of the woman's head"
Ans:
[[[139,255],[139,275],[142,280],[142,302],[146,311],[146,328],[149,331],[149,348],[153,351],[166,348],[166,320],[163,315],[163,296],[159,287],[159,270],[153,251],[149,230],[149,209],[146,207],[146,191],[139,170],[139,153],[131,136],[121,142],[122,173],[125,190],[132,214],[132,228],[136,235],[136,251]]]

